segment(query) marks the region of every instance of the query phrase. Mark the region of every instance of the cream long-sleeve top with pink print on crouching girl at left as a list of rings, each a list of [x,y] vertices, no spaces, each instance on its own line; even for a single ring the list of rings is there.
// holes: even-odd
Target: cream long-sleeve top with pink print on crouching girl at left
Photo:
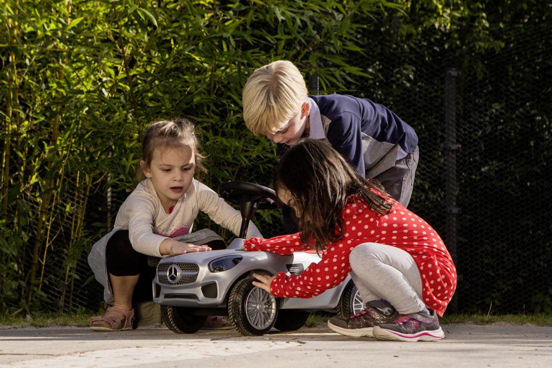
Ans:
[[[159,252],[161,242],[191,232],[199,211],[205,212],[211,220],[236,236],[240,233],[240,211],[233,209],[214,190],[195,179],[172,207],[170,214],[163,210],[151,180],[142,180],[121,205],[114,229],[128,229],[130,243],[137,252],[162,257]],[[262,237],[252,222],[247,230],[247,238],[251,237]]]

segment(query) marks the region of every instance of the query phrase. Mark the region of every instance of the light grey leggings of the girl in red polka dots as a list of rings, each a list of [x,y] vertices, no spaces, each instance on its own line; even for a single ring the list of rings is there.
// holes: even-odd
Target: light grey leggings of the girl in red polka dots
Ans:
[[[422,280],[418,266],[405,250],[364,243],[349,255],[351,277],[364,303],[384,299],[400,314],[420,312]]]

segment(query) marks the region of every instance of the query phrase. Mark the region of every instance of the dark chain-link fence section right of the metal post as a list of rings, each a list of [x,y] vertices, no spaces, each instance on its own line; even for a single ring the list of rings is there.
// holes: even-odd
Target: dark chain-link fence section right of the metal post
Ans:
[[[550,313],[552,26],[503,38],[459,88],[458,303]]]

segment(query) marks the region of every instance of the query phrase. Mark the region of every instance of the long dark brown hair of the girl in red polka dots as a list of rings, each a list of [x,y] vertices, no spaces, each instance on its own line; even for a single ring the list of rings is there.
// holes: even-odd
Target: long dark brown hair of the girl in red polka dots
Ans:
[[[323,140],[305,139],[289,148],[273,174],[274,190],[287,191],[295,202],[301,241],[325,249],[343,237],[342,212],[347,199],[359,196],[375,212],[386,215],[392,202],[374,193],[389,194],[374,179],[363,179],[341,154]]]

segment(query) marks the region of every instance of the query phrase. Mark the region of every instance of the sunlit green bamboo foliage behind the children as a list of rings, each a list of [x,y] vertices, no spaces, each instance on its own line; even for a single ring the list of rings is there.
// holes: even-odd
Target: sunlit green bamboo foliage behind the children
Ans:
[[[198,122],[211,188],[252,165],[264,168],[268,180],[273,148],[252,137],[241,119],[247,76],[285,58],[307,78],[319,74],[323,88],[333,86],[327,92],[344,88],[352,74],[365,74],[340,52],[361,52],[354,33],[386,6],[379,0],[0,4],[0,309],[41,308],[57,284],[58,308],[72,308],[81,282],[77,265],[109,221],[97,198],[110,190],[116,209],[134,188],[141,131],[153,120],[187,115]]]

